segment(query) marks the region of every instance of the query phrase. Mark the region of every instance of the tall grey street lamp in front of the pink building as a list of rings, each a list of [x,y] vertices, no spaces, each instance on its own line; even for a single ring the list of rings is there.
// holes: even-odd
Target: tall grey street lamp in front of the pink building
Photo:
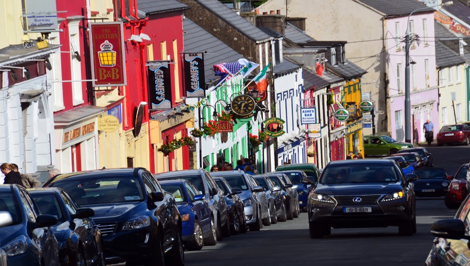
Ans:
[[[409,18],[413,15],[413,13],[425,10],[428,8],[435,8],[435,7],[445,7],[451,6],[454,3],[452,1],[444,2],[440,5],[420,8],[414,10],[412,13],[409,13],[408,20],[406,22],[406,32],[405,32],[405,142],[412,143],[411,140],[411,103],[409,100]]]

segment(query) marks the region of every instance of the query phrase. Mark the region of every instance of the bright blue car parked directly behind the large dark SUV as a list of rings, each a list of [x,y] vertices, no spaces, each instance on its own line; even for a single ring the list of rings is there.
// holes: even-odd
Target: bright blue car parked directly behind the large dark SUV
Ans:
[[[160,185],[166,192],[173,194],[177,202],[183,221],[181,227],[186,249],[200,250],[204,246],[204,236],[212,235],[212,239],[217,238],[209,204],[191,181],[162,180]]]

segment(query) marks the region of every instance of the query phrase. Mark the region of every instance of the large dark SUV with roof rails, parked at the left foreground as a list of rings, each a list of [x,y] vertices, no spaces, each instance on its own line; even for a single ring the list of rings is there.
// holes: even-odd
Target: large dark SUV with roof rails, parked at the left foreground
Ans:
[[[93,209],[106,263],[184,265],[177,203],[145,168],[61,174],[44,186],[60,187],[81,207]]]

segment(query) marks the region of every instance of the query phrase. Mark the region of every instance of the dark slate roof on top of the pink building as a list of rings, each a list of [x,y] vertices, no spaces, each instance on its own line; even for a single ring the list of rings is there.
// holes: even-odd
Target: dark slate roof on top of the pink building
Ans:
[[[384,13],[388,17],[396,17],[396,16],[408,16],[413,11],[426,8],[426,5],[415,1],[415,0],[357,0],[362,2],[363,4]],[[456,0],[459,1],[459,0]],[[454,1],[455,2],[455,1]],[[432,8],[426,8],[420,10],[417,13],[430,13],[434,12],[435,10]]]

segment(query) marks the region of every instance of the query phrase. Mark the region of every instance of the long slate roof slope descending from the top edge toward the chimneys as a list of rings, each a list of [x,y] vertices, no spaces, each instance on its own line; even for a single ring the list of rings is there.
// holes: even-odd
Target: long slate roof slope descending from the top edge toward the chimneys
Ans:
[[[237,13],[226,7],[217,0],[195,0],[201,6],[212,12],[214,15],[225,21],[228,25],[237,29],[241,34],[249,39],[262,42],[271,39],[271,37],[258,29],[255,25],[240,17]]]

